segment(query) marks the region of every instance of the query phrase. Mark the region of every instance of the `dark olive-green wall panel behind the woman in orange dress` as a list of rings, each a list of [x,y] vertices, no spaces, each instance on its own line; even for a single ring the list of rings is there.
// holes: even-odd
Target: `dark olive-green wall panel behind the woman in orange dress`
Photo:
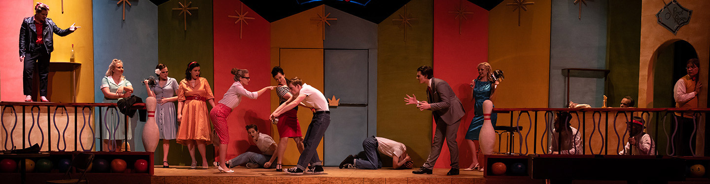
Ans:
[[[190,14],[174,11],[173,8],[180,8],[178,2],[186,4],[192,2]],[[200,76],[209,81],[209,85],[214,92],[214,31],[212,1],[168,1],[158,6],[158,62],[170,68],[170,77],[178,82],[185,79],[185,69],[190,62],[200,63]],[[187,29],[187,30],[185,30]],[[150,67],[155,69],[154,66]],[[215,101],[217,103],[217,101]],[[175,104],[177,105],[177,103]],[[209,109],[212,107],[209,107]],[[190,165],[190,156],[187,153],[187,146],[170,146],[170,164]],[[175,150],[175,151],[173,151]],[[157,153],[156,153],[157,154]],[[199,156],[196,155],[196,156]],[[207,158],[212,161],[214,156],[213,146],[207,146]]]

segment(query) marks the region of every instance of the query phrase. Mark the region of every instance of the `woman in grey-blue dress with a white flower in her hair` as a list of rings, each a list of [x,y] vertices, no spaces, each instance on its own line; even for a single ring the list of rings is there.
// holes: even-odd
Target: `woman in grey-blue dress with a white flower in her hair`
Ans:
[[[177,127],[175,126],[175,102],[178,96],[178,81],[168,77],[168,67],[165,64],[155,66],[155,75],[158,82],[155,85],[148,85],[148,80],[143,81],[148,91],[148,96],[155,97],[158,105],[155,105],[155,124],[160,130],[160,139],[163,139],[163,168],[168,168],[168,150],[170,150],[170,140],[175,139]]]

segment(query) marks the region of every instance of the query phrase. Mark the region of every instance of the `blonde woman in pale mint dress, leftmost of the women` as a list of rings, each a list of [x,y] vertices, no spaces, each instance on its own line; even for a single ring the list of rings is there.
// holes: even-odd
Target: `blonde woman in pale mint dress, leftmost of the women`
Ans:
[[[117,103],[121,98],[127,98],[133,93],[133,85],[124,76],[124,62],[119,59],[114,59],[109,64],[109,70],[106,71],[106,76],[101,80],[101,92],[104,93],[103,103]],[[96,137],[103,135],[104,150],[118,151],[123,146],[123,140],[126,139],[126,115],[119,112],[118,108],[107,108],[104,115],[104,123],[100,130],[96,132]],[[128,125],[128,137],[132,139],[131,124]],[[126,140],[127,140],[126,139]]]

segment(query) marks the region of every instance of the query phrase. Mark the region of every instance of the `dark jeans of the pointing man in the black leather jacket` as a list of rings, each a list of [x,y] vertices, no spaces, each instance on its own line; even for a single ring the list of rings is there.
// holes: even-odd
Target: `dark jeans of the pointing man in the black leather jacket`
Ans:
[[[36,52],[28,52],[25,56],[24,71],[22,72],[22,84],[24,86],[23,93],[26,96],[32,95],[32,77],[35,71],[35,66],[39,71],[40,76],[40,96],[47,96],[47,81],[49,75],[49,59],[51,54],[47,54],[44,45]]]

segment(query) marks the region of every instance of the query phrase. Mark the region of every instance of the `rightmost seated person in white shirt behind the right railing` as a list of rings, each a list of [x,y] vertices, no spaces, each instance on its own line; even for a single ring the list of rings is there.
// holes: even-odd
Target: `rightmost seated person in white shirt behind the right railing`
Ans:
[[[634,116],[630,122],[626,122],[626,131],[628,132],[628,142],[623,150],[619,151],[619,154],[628,154],[628,150],[633,146],[633,155],[655,155],[656,154],[656,143],[649,134],[643,132],[646,128],[643,126],[645,121],[643,118]]]

